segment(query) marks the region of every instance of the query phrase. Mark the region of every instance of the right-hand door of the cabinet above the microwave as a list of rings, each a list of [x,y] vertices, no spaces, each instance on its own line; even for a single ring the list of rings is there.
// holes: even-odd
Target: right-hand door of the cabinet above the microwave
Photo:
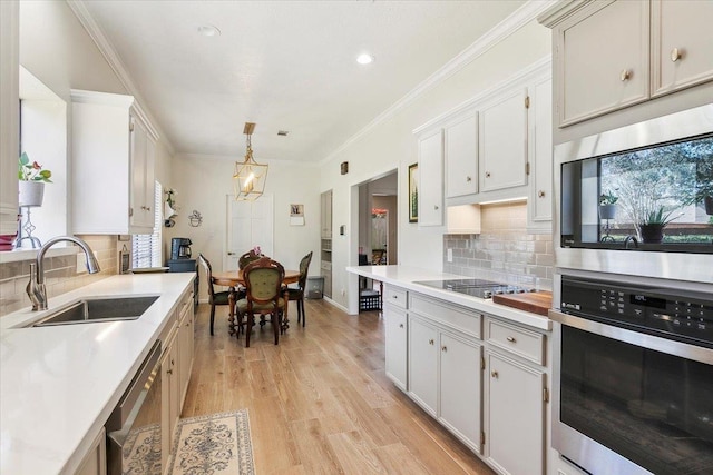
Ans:
[[[713,79],[712,1],[652,2],[653,95]]]

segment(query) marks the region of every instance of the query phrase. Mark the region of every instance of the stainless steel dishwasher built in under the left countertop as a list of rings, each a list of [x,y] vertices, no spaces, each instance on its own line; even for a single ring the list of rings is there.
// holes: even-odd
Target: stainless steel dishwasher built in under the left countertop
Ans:
[[[160,340],[156,340],[106,424],[107,474],[162,475]]]

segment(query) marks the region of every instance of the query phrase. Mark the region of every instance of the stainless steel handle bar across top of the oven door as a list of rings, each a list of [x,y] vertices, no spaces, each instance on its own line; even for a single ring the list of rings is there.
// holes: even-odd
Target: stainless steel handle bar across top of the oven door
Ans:
[[[667,355],[680,356],[682,358],[693,359],[706,365],[713,365],[713,349],[710,348],[662,338],[626,328],[619,328],[574,315],[563,314],[559,310],[550,309],[548,316],[550,319],[568,327],[578,328],[584,331],[641,346],[643,348],[654,349]]]

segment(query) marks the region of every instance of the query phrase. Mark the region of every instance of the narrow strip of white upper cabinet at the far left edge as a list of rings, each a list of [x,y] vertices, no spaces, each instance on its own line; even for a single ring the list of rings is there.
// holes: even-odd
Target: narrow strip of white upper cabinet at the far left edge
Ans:
[[[0,235],[18,230],[20,3],[0,1]]]

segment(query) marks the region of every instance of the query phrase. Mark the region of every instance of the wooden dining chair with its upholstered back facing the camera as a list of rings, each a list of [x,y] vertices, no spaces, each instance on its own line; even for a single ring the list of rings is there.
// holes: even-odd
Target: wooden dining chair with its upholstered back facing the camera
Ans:
[[[282,317],[287,300],[282,281],[285,278],[285,269],[276,260],[262,257],[253,260],[243,269],[245,281],[245,298],[237,300],[238,325],[243,325],[245,318],[245,347],[250,348],[250,335],[255,325],[255,315],[261,318],[270,316],[275,334],[275,345],[280,342],[282,333]]]

